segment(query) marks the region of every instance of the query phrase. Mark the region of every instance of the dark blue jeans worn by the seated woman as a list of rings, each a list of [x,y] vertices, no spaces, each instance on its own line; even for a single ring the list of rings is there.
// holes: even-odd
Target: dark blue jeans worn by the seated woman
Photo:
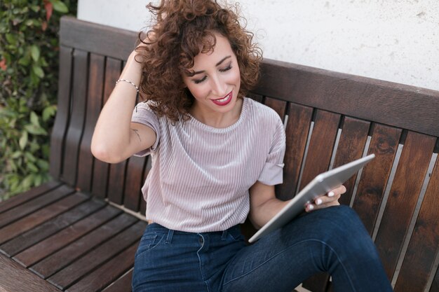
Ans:
[[[318,272],[335,291],[392,291],[377,250],[349,207],[313,211],[247,246],[238,226],[189,233],[148,225],[133,291],[290,292]]]

